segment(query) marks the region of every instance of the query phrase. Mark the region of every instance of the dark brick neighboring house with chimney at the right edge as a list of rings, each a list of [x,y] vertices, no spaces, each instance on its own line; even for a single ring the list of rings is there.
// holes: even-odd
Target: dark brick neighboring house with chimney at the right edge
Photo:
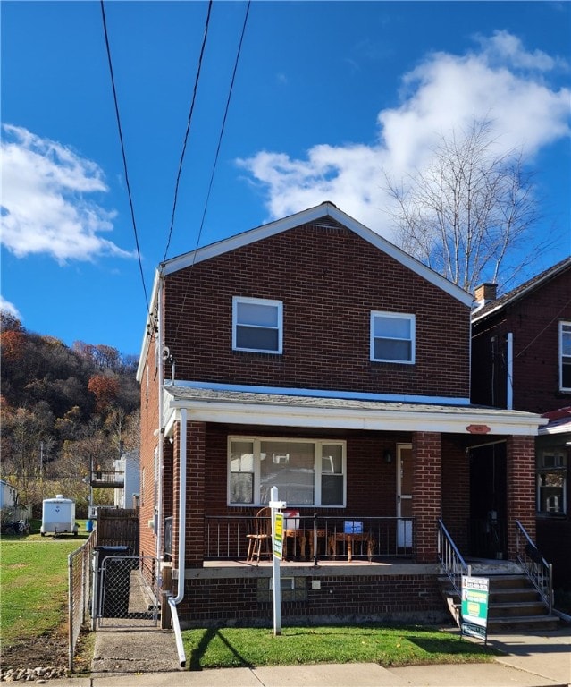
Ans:
[[[476,292],[472,400],[541,413],[535,453],[537,545],[571,587],[571,258],[496,298]]]

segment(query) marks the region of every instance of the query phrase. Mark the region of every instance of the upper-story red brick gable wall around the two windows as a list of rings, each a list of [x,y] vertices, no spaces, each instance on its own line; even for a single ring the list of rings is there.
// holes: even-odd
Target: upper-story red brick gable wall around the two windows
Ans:
[[[283,354],[231,351],[232,296],[283,302]],[[165,303],[178,379],[469,394],[469,310],[344,227],[303,225],[180,270]],[[369,360],[371,310],[416,314],[415,365]]]

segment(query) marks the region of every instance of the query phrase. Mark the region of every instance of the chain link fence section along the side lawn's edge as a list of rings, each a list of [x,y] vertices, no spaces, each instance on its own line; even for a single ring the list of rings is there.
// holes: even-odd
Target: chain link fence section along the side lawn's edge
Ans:
[[[91,591],[91,556],[95,548],[95,532],[85,544],[68,557],[68,626],[69,668],[73,672],[75,646],[89,611]]]

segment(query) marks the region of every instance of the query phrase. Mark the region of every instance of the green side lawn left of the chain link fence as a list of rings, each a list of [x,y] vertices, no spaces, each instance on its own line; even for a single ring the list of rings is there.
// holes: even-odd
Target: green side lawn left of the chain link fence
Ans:
[[[67,623],[67,556],[87,539],[85,524],[77,537],[27,536],[0,541],[0,635],[3,648],[21,640],[58,632]]]

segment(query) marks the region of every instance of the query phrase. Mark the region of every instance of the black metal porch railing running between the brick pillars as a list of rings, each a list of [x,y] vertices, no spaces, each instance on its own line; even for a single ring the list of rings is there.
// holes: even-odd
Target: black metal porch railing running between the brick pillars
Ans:
[[[256,516],[206,515],[205,560],[246,560]],[[296,515],[284,521],[285,560],[415,558],[416,519]]]

